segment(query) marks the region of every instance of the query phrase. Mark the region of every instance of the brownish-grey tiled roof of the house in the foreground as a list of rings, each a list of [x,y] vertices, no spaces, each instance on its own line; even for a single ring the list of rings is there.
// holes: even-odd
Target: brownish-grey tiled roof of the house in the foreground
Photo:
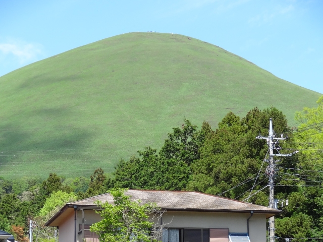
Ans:
[[[198,192],[185,191],[150,191],[128,190],[125,195],[131,196],[131,200],[140,200],[141,203],[156,203],[157,207],[169,210],[219,210],[219,211],[251,211],[277,214],[280,210],[259,206],[251,203],[240,202],[228,198],[212,196]],[[109,202],[113,204],[110,194],[76,201],[68,205],[95,206],[95,201]]]

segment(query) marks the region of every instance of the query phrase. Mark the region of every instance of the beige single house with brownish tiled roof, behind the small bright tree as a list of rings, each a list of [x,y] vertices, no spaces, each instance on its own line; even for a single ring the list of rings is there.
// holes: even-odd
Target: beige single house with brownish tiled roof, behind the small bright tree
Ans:
[[[266,219],[281,210],[244,203],[228,198],[186,191],[128,190],[125,195],[141,203],[152,202],[163,209],[163,223],[169,223],[163,242],[266,241]],[[103,194],[66,204],[46,222],[59,228],[59,242],[98,241],[89,231],[101,220],[95,201],[113,204]],[[250,239],[250,240],[249,240]]]

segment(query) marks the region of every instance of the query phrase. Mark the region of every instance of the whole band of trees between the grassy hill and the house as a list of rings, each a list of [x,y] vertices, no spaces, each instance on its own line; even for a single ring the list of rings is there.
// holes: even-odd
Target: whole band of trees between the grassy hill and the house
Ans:
[[[66,179],[55,173],[44,181],[0,178],[0,229],[18,236],[14,228],[27,231],[29,219],[41,227],[66,202],[116,188],[198,191],[268,206],[268,189],[264,189],[268,146],[255,137],[268,135],[269,119],[273,118],[277,136],[289,137],[281,142],[280,152],[300,150],[280,158],[277,165],[276,198],[289,201],[288,206],[279,207],[283,212],[276,219],[278,240],[322,238],[323,123],[319,124],[323,122],[323,97],[317,104],[317,108],[304,108],[296,114],[298,129],[289,127],[283,112],[275,107],[255,107],[244,117],[229,112],[215,130],[207,122],[198,128],[184,119],[159,151],[145,147],[138,156],[121,159],[109,177],[98,168],[89,178]],[[46,236],[42,239],[48,241]]]

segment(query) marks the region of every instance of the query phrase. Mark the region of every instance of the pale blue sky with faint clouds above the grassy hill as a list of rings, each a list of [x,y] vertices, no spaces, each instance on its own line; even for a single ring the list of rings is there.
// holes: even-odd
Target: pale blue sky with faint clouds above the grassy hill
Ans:
[[[322,13],[321,0],[0,0],[0,76],[103,38],[157,31],[218,45],[323,93]]]

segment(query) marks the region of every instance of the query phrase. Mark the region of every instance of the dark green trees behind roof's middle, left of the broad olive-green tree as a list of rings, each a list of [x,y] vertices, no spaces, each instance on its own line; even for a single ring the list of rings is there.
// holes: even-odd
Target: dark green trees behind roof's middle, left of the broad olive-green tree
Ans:
[[[182,127],[173,128],[159,153],[146,147],[139,157],[120,160],[109,188],[185,190],[191,175],[190,165],[199,159],[199,149],[212,133],[204,122],[201,130],[184,119]]]

